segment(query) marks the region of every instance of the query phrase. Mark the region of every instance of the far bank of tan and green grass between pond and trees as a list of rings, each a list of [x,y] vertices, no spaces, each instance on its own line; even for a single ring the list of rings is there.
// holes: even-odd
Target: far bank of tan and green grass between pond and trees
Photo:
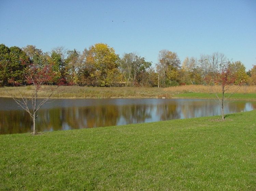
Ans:
[[[236,87],[229,93],[232,90],[236,90]],[[0,88],[0,97],[20,97],[19,91],[25,96],[30,96],[32,87]],[[220,92],[220,86],[203,85],[169,88],[61,86],[54,98],[215,98],[215,93]],[[39,92],[39,97],[44,96],[44,92]],[[256,86],[243,86],[231,98],[256,100]]]

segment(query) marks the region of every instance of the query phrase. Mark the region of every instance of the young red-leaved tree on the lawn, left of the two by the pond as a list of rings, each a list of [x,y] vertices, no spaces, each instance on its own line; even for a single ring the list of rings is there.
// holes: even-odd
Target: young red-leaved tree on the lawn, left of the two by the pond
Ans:
[[[46,86],[47,83],[52,83],[54,78],[54,72],[51,65],[45,65],[43,68],[38,67],[35,64],[30,64],[27,72],[24,74],[27,83],[33,86],[31,98],[24,96],[19,91],[21,99],[13,97],[14,101],[26,110],[33,120],[33,135],[36,134],[36,119],[38,117],[38,110],[51,99],[52,95],[56,93],[58,86]],[[38,93],[44,91],[44,99],[38,101]],[[32,110],[30,109],[32,106]]]

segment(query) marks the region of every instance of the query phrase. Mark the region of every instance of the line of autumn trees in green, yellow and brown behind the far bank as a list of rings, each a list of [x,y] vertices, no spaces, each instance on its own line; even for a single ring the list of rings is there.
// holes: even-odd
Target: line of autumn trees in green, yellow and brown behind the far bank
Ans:
[[[137,53],[122,57],[107,44],[95,44],[83,52],[54,48],[43,52],[33,45],[19,48],[0,44],[0,86],[31,84],[31,68],[47,74],[47,84],[79,86],[169,87],[185,84],[216,84],[223,71],[232,74],[233,84],[256,85],[256,65],[245,71],[240,61],[230,61],[215,52],[181,62],[176,52],[161,50],[155,67]],[[39,73],[40,74],[40,73]],[[40,76],[40,75],[39,75]]]

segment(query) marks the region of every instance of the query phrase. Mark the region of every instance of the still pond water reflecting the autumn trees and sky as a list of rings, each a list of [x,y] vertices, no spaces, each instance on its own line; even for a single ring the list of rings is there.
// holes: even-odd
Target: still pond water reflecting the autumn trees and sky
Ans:
[[[230,101],[225,114],[256,109]],[[57,131],[220,115],[207,99],[53,99],[38,112],[37,131]],[[11,98],[0,98],[0,134],[32,132],[32,120]]]

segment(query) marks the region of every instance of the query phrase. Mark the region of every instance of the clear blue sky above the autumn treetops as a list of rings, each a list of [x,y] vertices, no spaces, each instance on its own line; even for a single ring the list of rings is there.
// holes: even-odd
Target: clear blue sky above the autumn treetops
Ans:
[[[256,1],[0,0],[0,43],[83,51],[106,43],[157,63],[158,52],[186,56],[224,53],[256,65]]]

